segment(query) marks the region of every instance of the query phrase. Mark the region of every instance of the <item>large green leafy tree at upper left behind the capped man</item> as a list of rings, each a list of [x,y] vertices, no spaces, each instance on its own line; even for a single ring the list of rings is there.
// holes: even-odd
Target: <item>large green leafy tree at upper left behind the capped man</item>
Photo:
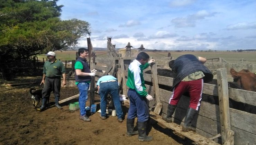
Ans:
[[[58,0],[0,0],[0,72],[6,78],[6,62],[48,51],[66,50],[91,35],[90,23],[61,20]]]

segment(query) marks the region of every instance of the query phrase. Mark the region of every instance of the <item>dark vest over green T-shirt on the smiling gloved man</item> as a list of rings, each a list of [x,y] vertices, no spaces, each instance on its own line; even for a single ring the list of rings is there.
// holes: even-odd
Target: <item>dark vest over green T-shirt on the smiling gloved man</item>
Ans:
[[[77,57],[76,61],[80,61],[83,65],[83,69],[81,70],[82,72],[88,72],[88,73],[91,73],[91,70],[89,68],[89,65],[87,64],[87,60],[86,59],[83,59],[81,57]],[[79,82],[79,83],[83,83],[85,81],[91,81],[92,77],[91,76],[77,76],[76,73],[75,73],[75,81],[76,82]]]

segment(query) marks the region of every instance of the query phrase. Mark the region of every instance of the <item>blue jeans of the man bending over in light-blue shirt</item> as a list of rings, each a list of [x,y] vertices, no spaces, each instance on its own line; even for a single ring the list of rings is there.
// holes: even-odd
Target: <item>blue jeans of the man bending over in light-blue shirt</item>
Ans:
[[[100,83],[99,94],[100,94],[101,116],[106,116],[107,96],[109,93],[112,95],[112,98],[113,98],[113,102],[114,102],[116,113],[117,113],[117,118],[122,119],[123,112],[122,112],[122,107],[121,107],[120,98],[119,98],[119,86],[117,81]]]

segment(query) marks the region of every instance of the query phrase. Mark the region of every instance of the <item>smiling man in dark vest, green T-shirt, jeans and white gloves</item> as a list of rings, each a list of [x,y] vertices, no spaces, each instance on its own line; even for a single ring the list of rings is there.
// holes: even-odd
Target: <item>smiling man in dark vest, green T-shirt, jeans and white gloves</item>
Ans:
[[[95,76],[97,70],[90,71],[87,64],[87,58],[89,55],[88,49],[78,49],[78,55],[75,61],[75,81],[79,89],[79,107],[80,107],[80,119],[85,122],[90,122],[91,119],[86,115],[85,104],[88,99],[88,90],[91,83],[92,76]]]

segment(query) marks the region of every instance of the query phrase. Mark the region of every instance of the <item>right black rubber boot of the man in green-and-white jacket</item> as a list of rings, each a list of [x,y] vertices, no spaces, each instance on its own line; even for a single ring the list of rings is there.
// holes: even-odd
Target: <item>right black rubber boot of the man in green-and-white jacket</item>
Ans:
[[[152,141],[153,137],[152,136],[147,136],[146,135],[146,130],[147,130],[147,122],[138,122],[138,132],[139,132],[139,141]]]

